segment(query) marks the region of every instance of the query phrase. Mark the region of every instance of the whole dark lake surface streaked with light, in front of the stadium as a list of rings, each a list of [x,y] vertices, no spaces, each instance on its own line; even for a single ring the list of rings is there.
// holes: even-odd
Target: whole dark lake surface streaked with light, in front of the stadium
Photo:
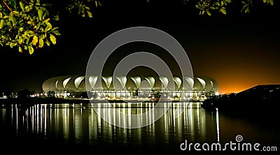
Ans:
[[[119,112],[135,115],[149,112],[155,103],[111,105]],[[165,115],[154,120],[155,114],[151,113],[145,118],[148,125],[141,128],[109,124],[97,115],[97,110],[108,114],[111,119],[118,118],[123,124],[131,122],[129,118],[113,114],[111,106],[105,103],[37,104],[29,108],[22,108],[19,104],[0,105],[1,146],[25,149],[86,147],[94,151],[176,151],[186,154],[180,147],[185,146],[181,145],[184,142],[224,144],[237,142],[239,135],[243,138],[241,142],[279,147],[279,128],[228,117],[218,110],[209,112],[199,105],[165,103],[160,107],[160,110],[166,111]],[[178,112],[182,113],[176,117]]]

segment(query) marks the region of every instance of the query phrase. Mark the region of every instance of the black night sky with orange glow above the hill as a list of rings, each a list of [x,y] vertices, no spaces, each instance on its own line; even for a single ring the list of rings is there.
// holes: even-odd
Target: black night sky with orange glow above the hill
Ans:
[[[278,1],[250,15],[239,13],[238,8],[226,16],[211,17],[198,15],[198,10],[183,3],[145,2],[108,1],[90,20],[64,16],[57,45],[31,55],[0,47],[0,90],[42,91],[43,81],[50,77],[84,75],[94,47],[106,36],[129,27],[153,27],[174,36],[186,50],[194,75],[214,78],[221,93],[239,92],[257,84],[280,84]],[[124,45],[114,54],[125,56],[129,49],[150,50],[169,61],[160,47],[148,43]],[[112,64],[118,60],[110,59]]]

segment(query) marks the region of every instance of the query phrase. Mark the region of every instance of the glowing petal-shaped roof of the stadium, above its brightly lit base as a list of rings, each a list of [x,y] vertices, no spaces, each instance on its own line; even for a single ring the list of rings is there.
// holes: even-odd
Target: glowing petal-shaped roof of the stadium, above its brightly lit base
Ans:
[[[87,82],[86,82],[87,80]],[[173,82],[173,83],[172,83]],[[87,89],[127,89],[136,90],[140,88],[141,83],[147,89],[171,89],[172,90],[194,90],[194,91],[217,91],[218,83],[211,77],[194,76],[178,77],[173,80],[167,77],[153,76],[133,76],[133,77],[98,77],[85,75],[66,75],[52,77],[43,82],[43,91],[87,91]],[[87,86],[86,86],[87,84]],[[102,84],[100,86],[100,84]],[[115,84],[115,85],[114,85]],[[173,86],[173,87],[171,87]],[[86,89],[87,88],[87,89]]]

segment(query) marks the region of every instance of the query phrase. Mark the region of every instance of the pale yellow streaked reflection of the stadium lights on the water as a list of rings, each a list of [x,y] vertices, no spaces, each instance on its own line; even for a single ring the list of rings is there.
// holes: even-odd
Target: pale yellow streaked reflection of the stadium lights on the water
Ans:
[[[169,105],[172,104],[172,105]],[[148,112],[155,103],[112,103],[117,110],[127,114]],[[132,107],[127,107],[132,106]],[[134,107],[133,107],[134,106]],[[15,134],[38,133],[46,139],[62,140],[64,143],[113,145],[131,143],[132,145],[180,143],[186,138],[192,141],[217,140],[215,114],[208,114],[199,107],[199,103],[165,103],[158,107],[166,111],[158,121],[154,114],[146,117],[148,126],[143,128],[119,128],[113,126],[97,115],[95,110],[107,114],[109,119],[130,124],[129,118],[114,115],[111,106],[99,104],[38,104],[20,113],[18,105],[12,105],[11,123]],[[3,110],[3,109],[2,109]],[[185,110],[185,111],[182,111]],[[3,111],[2,111],[3,112]],[[175,112],[178,112],[177,114]],[[183,112],[178,118],[175,116]],[[5,114],[3,114],[5,115]],[[211,115],[210,117],[206,115]],[[9,117],[9,116],[6,116]],[[209,119],[210,120],[207,120]],[[107,118],[108,119],[108,118]],[[142,120],[143,121],[143,120]],[[137,123],[141,123],[140,121]],[[208,129],[207,129],[208,128]],[[212,133],[207,133],[206,130]],[[211,137],[211,138],[210,138]]]

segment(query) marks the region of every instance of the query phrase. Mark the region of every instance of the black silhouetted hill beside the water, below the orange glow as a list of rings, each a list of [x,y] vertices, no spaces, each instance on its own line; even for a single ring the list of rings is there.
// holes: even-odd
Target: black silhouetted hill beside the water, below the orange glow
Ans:
[[[250,119],[258,123],[274,125],[278,122],[280,84],[257,85],[237,94],[214,96],[205,100],[202,108],[216,110],[230,116]],[[270,125],[270,124],[269,124]]]

